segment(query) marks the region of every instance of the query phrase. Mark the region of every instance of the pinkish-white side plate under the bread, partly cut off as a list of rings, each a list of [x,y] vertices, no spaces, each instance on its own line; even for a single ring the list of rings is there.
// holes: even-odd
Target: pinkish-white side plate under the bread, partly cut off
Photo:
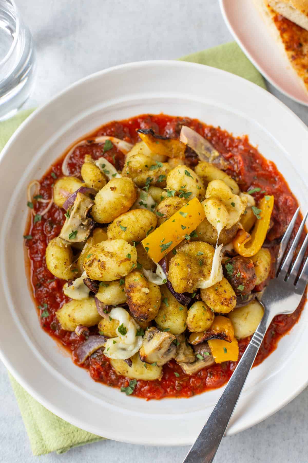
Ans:
[[[308,106],[308,93],[275,42],[252,0],[219,0],[231,34],[260,73],[292,100]]]

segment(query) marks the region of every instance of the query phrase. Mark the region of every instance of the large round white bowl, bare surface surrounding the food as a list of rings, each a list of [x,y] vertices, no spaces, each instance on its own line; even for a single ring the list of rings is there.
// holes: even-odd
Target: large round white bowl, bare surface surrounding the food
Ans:
[[[134,444],[192,444],[222,389],[190,399],[146,402],[94,382],[39,326],[24,275],[26,186],[76,138],[140,113],[199,118],[252,144],[277,163],[307,207],[307,127],[265,90],[211,67],[154,61],[125,64],[77,82],[36,110],[0,159],[0,355],[18,382],[49,410],[87,431]],[[300,163],[300,173],[293,167]],[[306,177],[307,178],[307,177]],[[308,383],[308,311],[248,377],[229,435],[276,412]]]

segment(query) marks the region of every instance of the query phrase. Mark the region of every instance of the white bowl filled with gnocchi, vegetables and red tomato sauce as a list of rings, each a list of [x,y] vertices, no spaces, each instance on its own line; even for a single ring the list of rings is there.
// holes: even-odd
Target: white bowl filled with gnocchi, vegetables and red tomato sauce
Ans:
[[[168,70],[166,100],[153,69]],[[186,93],[192,69],[194,92],[206,79],[214,100]],[[116,86],[124,71],[129,95]],[[135,95],[136,72],[155,91]],[[228,82],[223,94],[217,75]],[[108,85],[109,97],[97,98]],[[281,111],[302,146],[307,129],[265,91],[217,69],[159,62],[79,82],[35,112],[4,150],[8,171],[5,163],[31,139],[2,235],[12,242],[18,223],[2,290],[20,356],[8,354],[6,336],[1,355],[37,400],[83,429],[127,442],[191,444],[262,319],[262,294],[305,187],[272,117],[265,130],[261,109],[252,114],[244,101],[231,107],[240,87],[266,101],[270,114]],[[86,102],[77,97],[85,91]],[[60,107],[59,120],[33,138],[40,118]],[[16,212],[17,202],[26,208]],[[21,249],[25,269],[14,264]],[[230,432],[264,419],[306,384],[287,354],[290,342],[299,349],[305,302],[272,321]],[[282,391],[269,409],[271,388],[290,369],[297,371],[291,395]],[[251,394],[258,400],[248,407]]]

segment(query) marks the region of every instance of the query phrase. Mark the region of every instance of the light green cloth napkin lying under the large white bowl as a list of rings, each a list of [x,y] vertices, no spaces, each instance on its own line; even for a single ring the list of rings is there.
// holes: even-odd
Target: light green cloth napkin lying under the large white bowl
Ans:
[[[263,77],[235,42],[199,51],[193,55],[184,56],[181,60],[207,64],[214,68],[223,69],[245,77],[262,88],[266,88]],[[0,151],[14,131],[32,111],[21,111],[12,119],[0,122]],[[49,410],[28,394],[12,375],[9,376],[30,439],[33,455],[42,455],[53,451],[63,453],[72,447],[90,444],[91,442],[103,439],[95,434],[70,425],[49,412]]]

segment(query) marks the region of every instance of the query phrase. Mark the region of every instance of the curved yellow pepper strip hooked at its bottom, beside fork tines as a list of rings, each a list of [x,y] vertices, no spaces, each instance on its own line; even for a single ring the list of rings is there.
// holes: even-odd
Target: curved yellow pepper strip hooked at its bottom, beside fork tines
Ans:
[[[252,257],[260,251],[270,225],[273,206],[274,196],[264,196],[259,201],[259,209],[255,210],[257,221],[251,236],[245,230],[237,232],[233,246],[240,256]]]

